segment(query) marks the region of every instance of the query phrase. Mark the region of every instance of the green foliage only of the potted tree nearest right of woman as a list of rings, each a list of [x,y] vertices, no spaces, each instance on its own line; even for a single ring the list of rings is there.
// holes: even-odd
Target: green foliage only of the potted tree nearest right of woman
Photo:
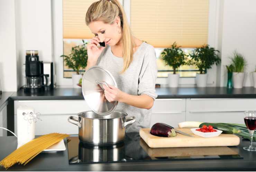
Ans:
[[[171,48],[164,49],[161,55],[166,65],[173,68],[173,74],[176,74],[177,68],[186,64],[186,54],[182,51],[180,46],[177,47],[176,42],[172,44]]]

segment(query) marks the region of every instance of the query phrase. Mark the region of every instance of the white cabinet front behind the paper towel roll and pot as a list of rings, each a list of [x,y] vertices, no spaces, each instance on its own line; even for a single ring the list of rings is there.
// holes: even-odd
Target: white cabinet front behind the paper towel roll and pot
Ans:
[[[90,110],[85,100],[16,100],[14,102],[15,133],[17,134],[17,108],[19,106],[33,107],[39,112],[36,122],[36,135],[52,132],[78,134],[78,127],[67,121],[69,116],[77,116],[79,112]]]

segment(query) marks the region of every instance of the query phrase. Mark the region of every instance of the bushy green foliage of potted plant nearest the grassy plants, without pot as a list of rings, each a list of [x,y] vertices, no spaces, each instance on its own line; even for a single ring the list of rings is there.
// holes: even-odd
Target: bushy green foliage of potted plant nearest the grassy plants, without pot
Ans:
[[[203,45],[196,48],[190,55],[191,60],[188,62],[190,65],[195,65],[200,74],[206,74],[207,70],[215,63],[218,65],[221,61],[220,57],[216,54],[219,52],[209,45]]]

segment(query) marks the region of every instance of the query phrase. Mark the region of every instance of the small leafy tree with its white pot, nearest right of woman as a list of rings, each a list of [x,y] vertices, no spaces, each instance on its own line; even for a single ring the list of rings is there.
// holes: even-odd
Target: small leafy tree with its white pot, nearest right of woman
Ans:
[[[168,86],[169,87],[178,87],[180,74],[176,74],[177,69],[186,64],[186,55],[178,47],[176,42],[172,44],[171,48],[164,49],[161,53],[162,59],[165,61],[166,65],[173,68],[173,74],[168,74]]]

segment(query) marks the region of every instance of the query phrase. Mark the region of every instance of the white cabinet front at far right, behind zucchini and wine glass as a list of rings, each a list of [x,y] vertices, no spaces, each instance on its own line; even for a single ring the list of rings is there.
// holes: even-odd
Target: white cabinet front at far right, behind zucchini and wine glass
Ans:
[[[244,124],[244,111],[256,110],[253,98],[186,99],[186,121]]]

